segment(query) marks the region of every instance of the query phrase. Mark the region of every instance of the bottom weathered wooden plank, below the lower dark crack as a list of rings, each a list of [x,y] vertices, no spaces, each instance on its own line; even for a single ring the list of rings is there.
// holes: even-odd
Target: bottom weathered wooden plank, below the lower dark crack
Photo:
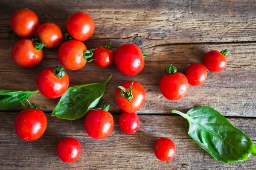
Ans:
[[[224,164],[216,161],[188,136],[188,122],[180,116],[139,115],[140,129],[134,134],[124,134],[119,129],[118,117],[108,138],[95,140],[84,130],[84,119],[67,121],[51,117],[47,113],[47,130],[32,142],[21,140],[15,133],[13,123],[17,113],[0,112],[0,169],[184,169],[192,170],[255,170],[256,156],[247,161]],[[243,130],[256,144],[255,118],[228,118],[233,125]],[[58,142],[65,137],[74,137],[82,147],[81,156],[72,164],[61,162],[56,155]],[[153,145],[160,137],[172,139],[177,147],[175,158],[169,162],[158,161]]]

